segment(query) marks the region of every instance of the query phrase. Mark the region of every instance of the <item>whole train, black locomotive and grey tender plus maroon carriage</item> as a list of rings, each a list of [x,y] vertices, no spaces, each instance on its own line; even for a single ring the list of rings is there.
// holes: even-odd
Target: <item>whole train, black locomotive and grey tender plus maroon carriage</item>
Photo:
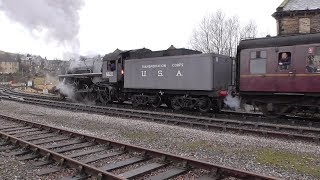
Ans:
[[[116,50],[59,76],[76,99],[220,111],[228,94],[267,116],[320,109],[320,34],[240,42],[232,59],[189,49]]]

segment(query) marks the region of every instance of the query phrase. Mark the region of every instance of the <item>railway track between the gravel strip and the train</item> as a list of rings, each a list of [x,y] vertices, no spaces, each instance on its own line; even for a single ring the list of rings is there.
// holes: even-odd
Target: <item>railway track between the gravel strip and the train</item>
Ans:
[[[298,125],[265,123],[259,120],[230,120],[229,118],[190,116],[176,113],[143,111],[118,107],[92,106],[79,103],[70,103],[22,96],[18,96],[18,98],[9,98],[4,96],[3,98],[29,104],[45,105],[81,112],[94,112],[116,117],[144,119],[153,122],[188,126],[193,128],[248,133],[265,137],[304,140],[314,142],[316,144],[320,143],[320,128],[315,128],[312,126],[301,127]]]

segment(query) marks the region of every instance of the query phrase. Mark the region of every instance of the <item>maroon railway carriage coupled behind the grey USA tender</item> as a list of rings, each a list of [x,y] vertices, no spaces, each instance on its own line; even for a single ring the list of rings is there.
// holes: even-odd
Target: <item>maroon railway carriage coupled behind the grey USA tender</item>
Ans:
[[[320,34],[242,41],[236,79],[242,100],[265,115],[318,112]]]

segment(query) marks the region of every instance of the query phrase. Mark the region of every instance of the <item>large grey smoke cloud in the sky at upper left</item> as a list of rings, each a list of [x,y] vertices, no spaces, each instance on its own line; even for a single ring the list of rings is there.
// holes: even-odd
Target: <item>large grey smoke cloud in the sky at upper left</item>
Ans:
[[[71,48],[72,53],[78,53],[78,11],[83,4],[83,0],[0,0],[0,11],[31,34],[44,32],[47,40],[54,40]]]

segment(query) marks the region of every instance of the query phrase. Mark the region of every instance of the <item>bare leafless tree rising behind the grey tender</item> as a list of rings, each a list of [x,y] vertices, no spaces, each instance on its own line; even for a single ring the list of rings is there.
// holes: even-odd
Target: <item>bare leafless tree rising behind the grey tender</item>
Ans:
[[[193,31],[190,45],[193,49],[204,53],[217,53],[235,56],[237,45],[241,39],[254,38],[257,25],[250,21],[241,28],[237,16],[231,18],[221,11],[205,16]]]

